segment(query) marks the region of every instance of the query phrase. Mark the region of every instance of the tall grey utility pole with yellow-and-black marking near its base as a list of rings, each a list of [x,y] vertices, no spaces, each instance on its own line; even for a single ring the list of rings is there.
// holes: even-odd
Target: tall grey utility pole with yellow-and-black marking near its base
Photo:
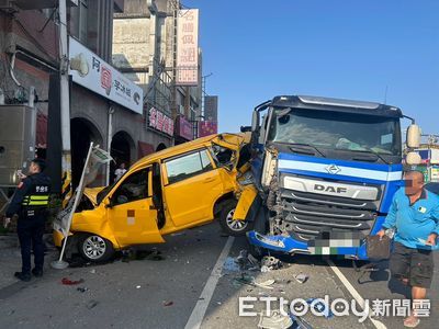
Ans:
[[[60,117],[63,138],[63,193],[70,189],[71,195],[71,150],[70,150],[70,95],[68,76],[67,7],[59,0],[59,73],[60,73]],[[66,196],[70,196],[66,195]]]

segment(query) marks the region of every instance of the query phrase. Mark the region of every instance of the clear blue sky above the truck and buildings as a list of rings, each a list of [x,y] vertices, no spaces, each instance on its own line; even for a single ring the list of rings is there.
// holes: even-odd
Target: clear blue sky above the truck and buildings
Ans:
[[[439,134],[438,0],[183,0],[200,9],[207,94],[238,132],[280,94],[386,103]],[[387,91],[386,91],[387,90]],[[408,122],[405,123],[408,125]],[[404,124],[403,124],[404,126]]]

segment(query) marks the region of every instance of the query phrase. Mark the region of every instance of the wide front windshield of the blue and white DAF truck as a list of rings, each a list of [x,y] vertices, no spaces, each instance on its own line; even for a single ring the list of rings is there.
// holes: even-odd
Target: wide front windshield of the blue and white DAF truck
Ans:
[[[274,109],[268,140],[308,145],[318,150],[401,157],[397,117],[309,109]]]

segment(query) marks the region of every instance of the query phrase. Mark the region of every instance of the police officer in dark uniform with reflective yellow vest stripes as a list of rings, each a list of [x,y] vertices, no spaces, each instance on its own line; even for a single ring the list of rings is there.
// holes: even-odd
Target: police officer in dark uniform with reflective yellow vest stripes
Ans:
[[[43,275],[43,234],[50,193],[50,180],[43,173],[45,167],[44,160],[32,160],[30,174],[19,184],[7,211],[8,218],[19,216],[16,232],[21,247],[22,270],[14,275],[22,281],[31,281],[31,248],[35,258],[32,274]]]

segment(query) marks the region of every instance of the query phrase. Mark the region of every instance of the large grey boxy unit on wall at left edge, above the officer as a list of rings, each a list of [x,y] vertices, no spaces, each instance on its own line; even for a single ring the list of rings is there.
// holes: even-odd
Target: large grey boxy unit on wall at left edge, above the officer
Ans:
[[[16,170],[26,170],[35,157],[36,111],[25,105],[1,105],[0,122],[0,186],[15,186]]]

